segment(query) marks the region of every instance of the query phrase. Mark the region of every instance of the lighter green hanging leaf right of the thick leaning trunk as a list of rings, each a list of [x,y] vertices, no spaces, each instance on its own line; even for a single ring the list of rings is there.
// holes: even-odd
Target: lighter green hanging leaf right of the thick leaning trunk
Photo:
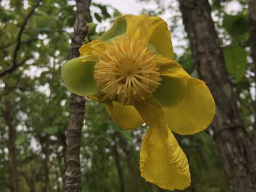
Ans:
[[[247,68],[246,51],[239,46],[228,45],[223,47],[223,55],[228,73],[241,81]]]

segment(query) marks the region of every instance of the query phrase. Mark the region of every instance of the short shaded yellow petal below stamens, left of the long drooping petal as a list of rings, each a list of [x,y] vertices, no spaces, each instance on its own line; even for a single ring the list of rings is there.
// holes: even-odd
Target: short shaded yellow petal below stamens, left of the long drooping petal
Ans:
[[[124,130],[141,126],[144,121],[133,106],[124,106],[116,101],[105,102],[106,110],[113,121]]]

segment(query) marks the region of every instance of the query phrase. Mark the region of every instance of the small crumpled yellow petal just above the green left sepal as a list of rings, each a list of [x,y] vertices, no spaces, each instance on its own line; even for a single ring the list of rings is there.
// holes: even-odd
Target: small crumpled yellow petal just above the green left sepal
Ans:
[[[81,56],[84,55],[99,55],[102,51],[106,50],[106,46],[108,43],[99,41],[99,40],[93,40],[90,43],[86,43],[82,45],[79,48],[79,52]]]

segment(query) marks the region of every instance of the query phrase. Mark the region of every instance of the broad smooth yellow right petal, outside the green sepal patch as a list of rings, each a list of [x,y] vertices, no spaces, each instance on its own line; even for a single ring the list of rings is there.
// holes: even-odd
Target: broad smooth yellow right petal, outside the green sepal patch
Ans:
[[[187,92],[179,105],[164,108],[170,129],[179,134],[205,130],[215,115],[212,94],[203,81],[187,78]]]

